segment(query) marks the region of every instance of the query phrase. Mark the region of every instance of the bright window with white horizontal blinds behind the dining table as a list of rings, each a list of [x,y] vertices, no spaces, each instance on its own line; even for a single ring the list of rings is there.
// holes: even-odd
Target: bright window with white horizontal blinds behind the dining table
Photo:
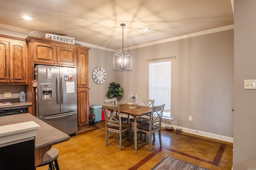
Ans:
[[[149,98],[165,104],[164,119],[171,119],[171,61],[149,63]]]

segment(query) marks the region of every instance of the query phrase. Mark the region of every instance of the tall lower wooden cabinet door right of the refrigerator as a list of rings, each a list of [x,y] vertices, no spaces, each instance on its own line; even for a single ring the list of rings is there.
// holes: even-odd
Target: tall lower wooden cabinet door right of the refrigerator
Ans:
[[[78,130],[89,126],[89,88],[77,88]]]

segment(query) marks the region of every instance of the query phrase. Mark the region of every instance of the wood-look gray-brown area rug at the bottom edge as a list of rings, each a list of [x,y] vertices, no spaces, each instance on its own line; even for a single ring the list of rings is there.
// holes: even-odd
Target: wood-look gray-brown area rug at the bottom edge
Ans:
[[[173,158],[166,155],[158,164],[156,164],[151,170],[208,170],[201,166],[197,166],[186,161]]]

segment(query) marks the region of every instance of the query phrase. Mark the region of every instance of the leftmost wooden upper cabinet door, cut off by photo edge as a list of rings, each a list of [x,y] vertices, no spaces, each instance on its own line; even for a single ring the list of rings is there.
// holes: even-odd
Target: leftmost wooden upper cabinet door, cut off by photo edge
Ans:
[[[0,83],[9,82],[9,42],[0,40]]]

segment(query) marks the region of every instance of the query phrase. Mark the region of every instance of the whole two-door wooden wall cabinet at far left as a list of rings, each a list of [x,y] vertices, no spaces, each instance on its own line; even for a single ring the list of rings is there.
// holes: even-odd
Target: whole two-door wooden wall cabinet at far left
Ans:
[[[0,83],[27,84],[27,50],[24,39],[0,35]]]

